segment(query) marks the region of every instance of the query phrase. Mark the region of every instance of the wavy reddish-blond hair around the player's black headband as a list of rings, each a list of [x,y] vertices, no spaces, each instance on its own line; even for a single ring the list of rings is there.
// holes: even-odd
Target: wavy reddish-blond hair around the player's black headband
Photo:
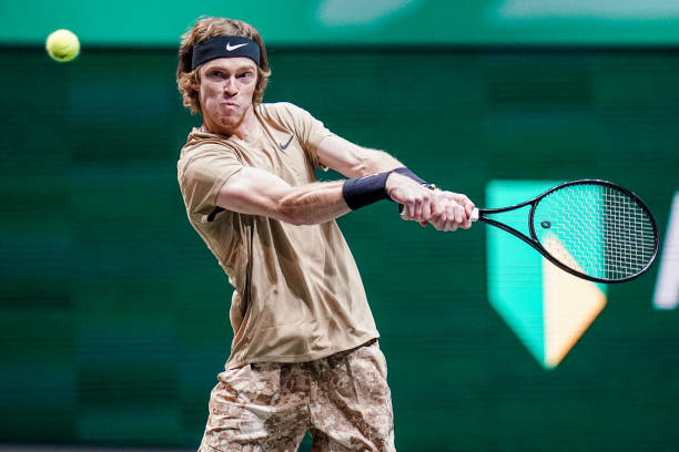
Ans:
[[[199,92],[194,88],[201,84],[200,66],[195,70],[191,69],[193,48],[199,42],[216,37],[244,37],[256,42],[260,47],[260,65],[257,68],[257,83],[252,101],[257,105],[264,99],[264,90],[271,76],[271,69],[266,59],[266,48],[260,32],[250,23],[241,20],[202,17],[195,21],[190,31],[182,34],[179,64],[176,65],[176,85],[182,94],[184,106],[191,110],[192,114],[202,114]]]

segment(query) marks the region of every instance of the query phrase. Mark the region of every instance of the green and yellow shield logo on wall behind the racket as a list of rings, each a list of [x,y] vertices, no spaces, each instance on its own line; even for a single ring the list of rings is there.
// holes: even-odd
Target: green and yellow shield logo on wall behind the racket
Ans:
[[[557,185],[556,181],[493,181],[486,205],[518,204]],[[527,233],[529,207],[498,215]],[[577,278],[516,237],[487,230],[488,297],[497,312],[546,369],[561,362],[606,306],[606,286]],[[546,247],[560,248],[554,239]]]

